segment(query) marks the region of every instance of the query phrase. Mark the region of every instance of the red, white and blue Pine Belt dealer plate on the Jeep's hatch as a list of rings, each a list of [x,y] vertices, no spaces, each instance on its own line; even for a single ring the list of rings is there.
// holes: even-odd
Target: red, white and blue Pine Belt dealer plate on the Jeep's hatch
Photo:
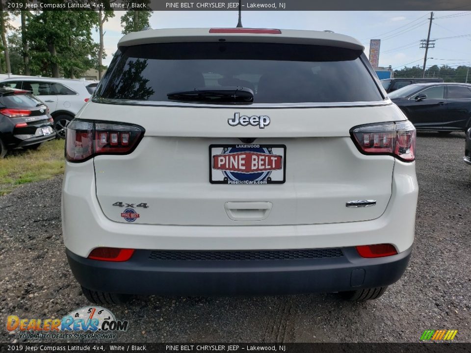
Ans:
[[[285,145],[210,145],[209,182],[212,184],[283,184]]]

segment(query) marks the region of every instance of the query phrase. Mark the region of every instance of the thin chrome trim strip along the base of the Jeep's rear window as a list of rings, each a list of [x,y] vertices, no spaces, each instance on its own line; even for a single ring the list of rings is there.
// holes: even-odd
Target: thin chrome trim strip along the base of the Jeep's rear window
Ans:
[[[161,107],[181,107],[181,108],[251,108],[251,109],[276,109],[276,108],[337,108],[337,107],[363,107],[391,105],[392,101],[387,98],[383,101],[362,101],[362,102],[330,102],[330,103],[249,103],[249,104],[205,104],[205,103],[185,103],[172,101],[136,101],[93,97],[95,103],[118,104],[118,105],[141,105],[141,106],[161,106]]]

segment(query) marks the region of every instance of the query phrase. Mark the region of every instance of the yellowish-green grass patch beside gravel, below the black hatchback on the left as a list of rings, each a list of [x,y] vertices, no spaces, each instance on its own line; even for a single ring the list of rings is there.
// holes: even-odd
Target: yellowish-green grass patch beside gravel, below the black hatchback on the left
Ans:
[[[29,182],[64,173],[64,140],[45,142],[38,150],[18,149],[0,159],[0,195]]]

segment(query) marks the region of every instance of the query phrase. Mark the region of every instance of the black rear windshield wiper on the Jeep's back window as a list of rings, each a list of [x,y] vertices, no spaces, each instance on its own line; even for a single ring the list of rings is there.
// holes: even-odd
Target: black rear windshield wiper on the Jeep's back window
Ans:
[[[174,101],[207,101],[217,103],[251,103],[254,101],[254,91],[246,87],[201,87],[193,91],[171,92],[167,94]]]

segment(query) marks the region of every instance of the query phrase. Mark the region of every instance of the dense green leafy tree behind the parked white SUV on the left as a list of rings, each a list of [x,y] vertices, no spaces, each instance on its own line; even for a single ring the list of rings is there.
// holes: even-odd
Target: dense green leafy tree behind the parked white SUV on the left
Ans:
[[[99,45],[91,29],[97,11],[42,11],[33,15],[26,37],[35,75],[77,77],[97,66]]]

